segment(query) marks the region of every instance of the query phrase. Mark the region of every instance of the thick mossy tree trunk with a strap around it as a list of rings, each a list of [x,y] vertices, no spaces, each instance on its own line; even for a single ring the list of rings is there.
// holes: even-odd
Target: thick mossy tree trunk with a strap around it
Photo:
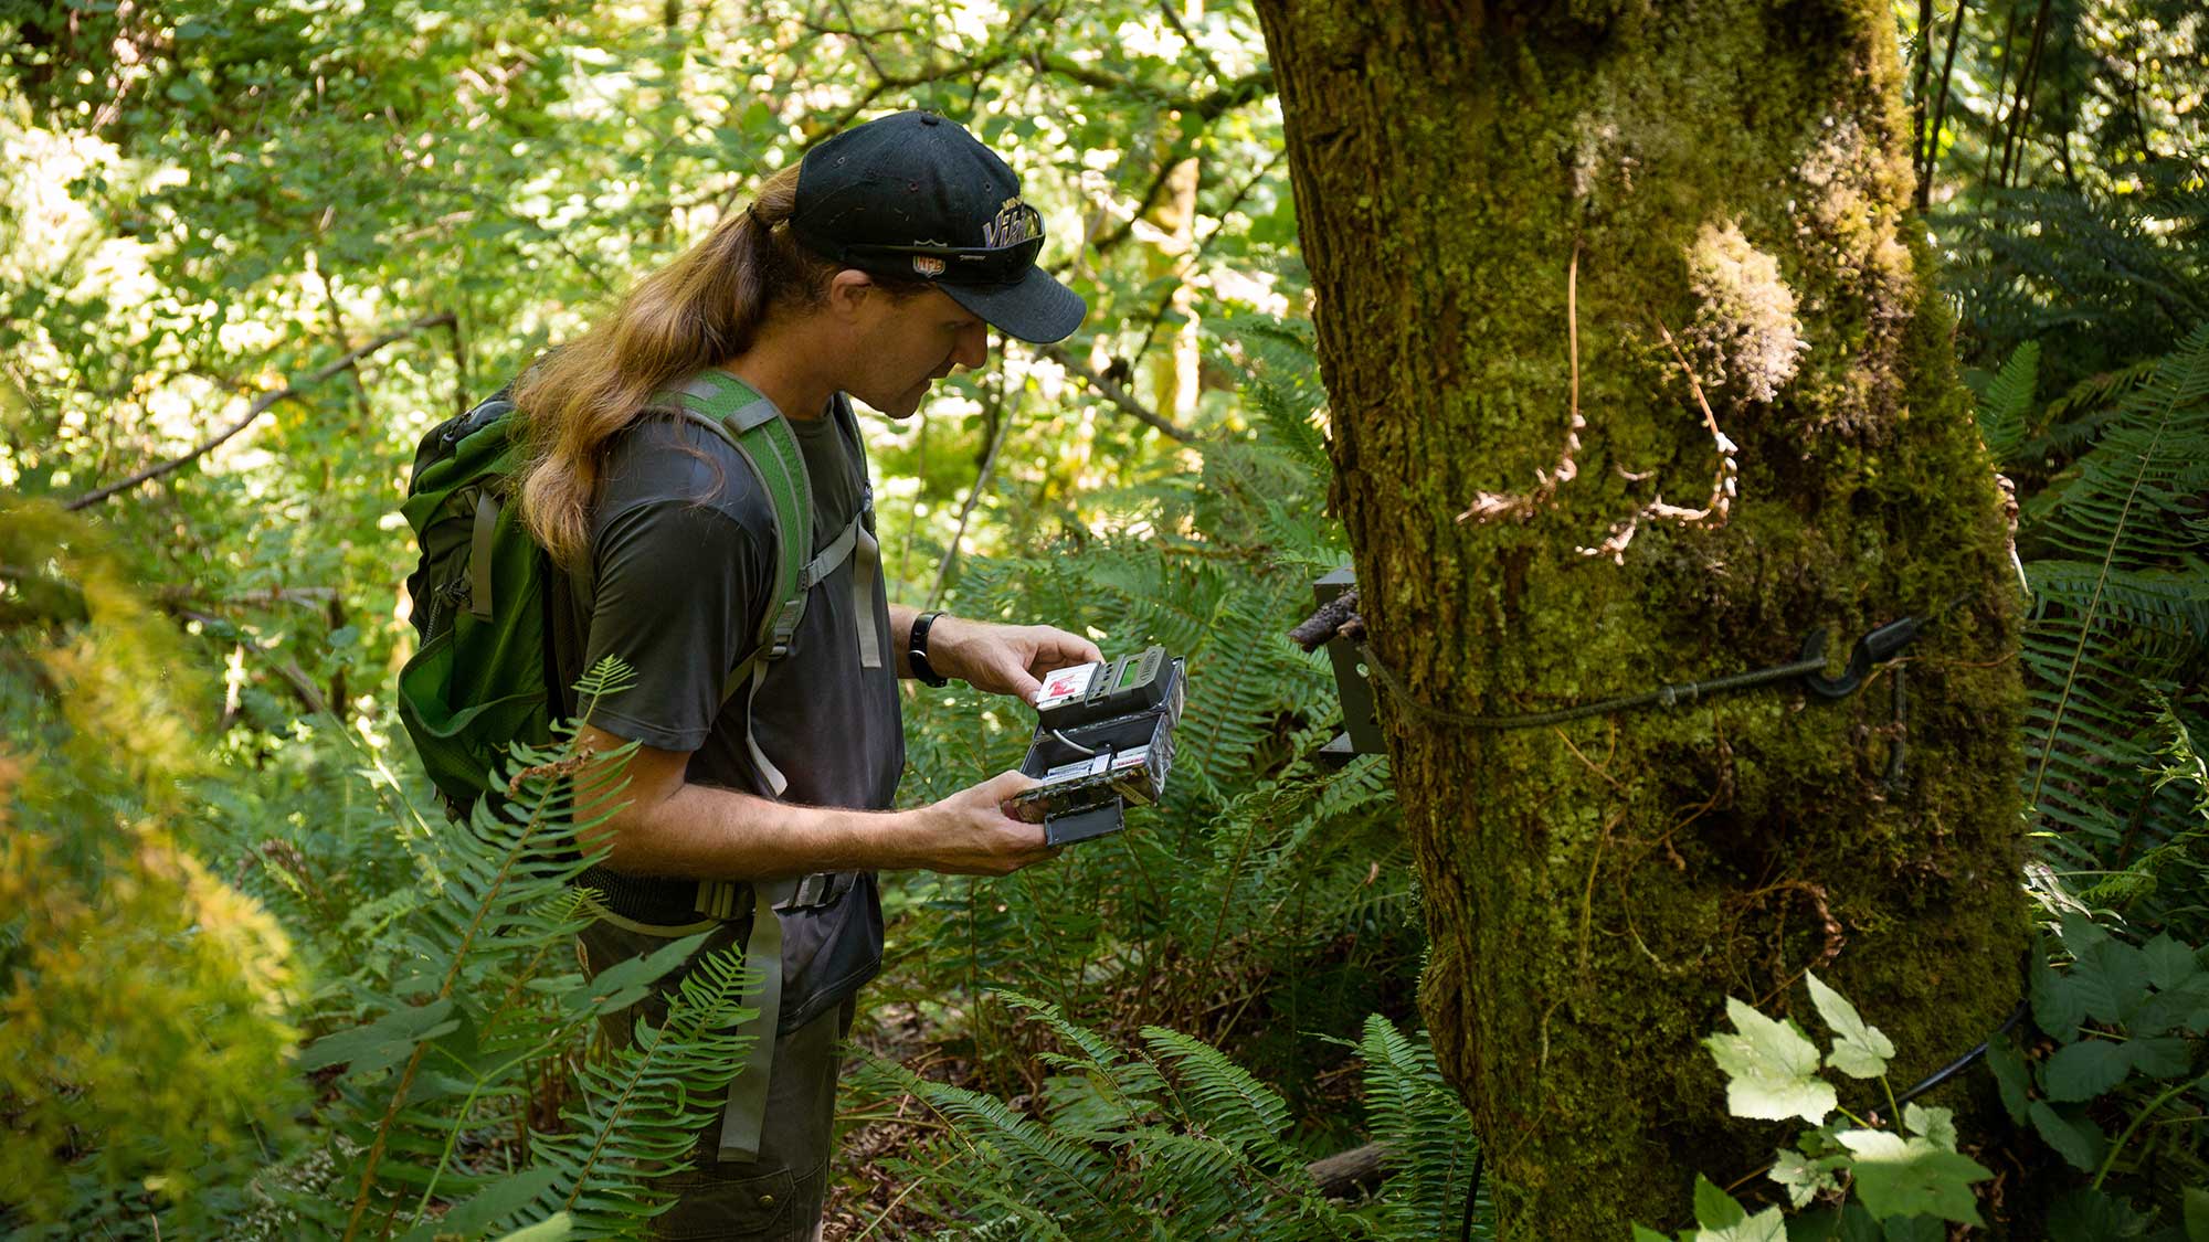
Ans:
[[[1418,698],[1544,709],[1953,601],[1900,725],[1893,672],[1515,731],[1383,696],[1423,1008],[1504,1233],[1685,1224],[1694,1171],[1785,1134],[1723,1116],[1697,1039],[1727,994],[1822,1041],[1816,968],[1893,1036],[1898,1090],[2019,994],[2015,579],[1911,239],[1886,0],[1259,15],[1334,504]]]

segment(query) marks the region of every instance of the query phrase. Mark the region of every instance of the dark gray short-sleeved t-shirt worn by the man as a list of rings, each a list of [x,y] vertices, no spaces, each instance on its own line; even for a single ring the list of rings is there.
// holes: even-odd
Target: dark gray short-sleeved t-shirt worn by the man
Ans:
[[[859,513],[866,449],[850,402],[793,418],[813,484],[815,555]],[[691,785],[773,796],[744,745],[742,692],[722,681],[744,659],[771,608],[775,511],[760,480],[720,435],[687,418],[647,415],[614,438],[592,526],[592,555],[572,577],[583,667],[621,656],[634,685],[596,703],[592,725],[647,747],[691,751]],[[751,727],[789,787],[784,802],[881,811],[897,798],[906,736],[897,703],[890,612],[875,572],[866,614],[848,557],[806,601],[791,652],[751,701]],[[862,667],[859,625],[875,628],[881,667]],[[623,884],[623,913],[694,922],[687,880]],[[782,917],[782,1028],[795,1030],[881,968],[875,877],[833,906]]]

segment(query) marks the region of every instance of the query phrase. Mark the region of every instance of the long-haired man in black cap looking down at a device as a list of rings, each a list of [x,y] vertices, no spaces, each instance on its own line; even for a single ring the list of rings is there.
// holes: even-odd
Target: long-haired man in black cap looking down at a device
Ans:
[[[1047,625],[888,606],[846,400],[906,418],[932,380],[987,362],[990,327],[1071,334],[1087,307],[1034,265],[1040,245],[996,155],[943,117],[899,113],[771,177],[515,393],[532,442],[524,517],[568,570],[581,634],[570,663],[636,670],[583,729],[601,749],[638,743],[630,802],[601,829],[610,855],[592,882],[610,917],[585,935],[590,968],[702,928],[709,950],[780,935],[771,1065],[738,1078],[663,1238],[817,1231],[835,1043],[881,964],[875,871],[1003,875],[1049,855],[1040,827],[1005,813],[1034,785],[1021,773],[888,809],[903,769],[895,678],[1029,698],[1038,674],[1100,654]],[[731,440],[663,409],[667,389],[727,393],[731,378],[773,402],[747,409],[795,433],[813,530],[784,541],[824,566],[786,652],[733,694],[725,681],[775,603],[775,502]],[[654,1021],[669,988],[645,1003]]]

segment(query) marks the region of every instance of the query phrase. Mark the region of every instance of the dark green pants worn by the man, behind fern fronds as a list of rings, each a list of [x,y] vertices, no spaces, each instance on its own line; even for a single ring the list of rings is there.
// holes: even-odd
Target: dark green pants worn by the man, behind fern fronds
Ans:
[[[705,955],[738,944],[742,924],[722,924],[698,948]],[[581,935],[583,966],[592,975],[649,952],[665,939],[592,924]],[[638,1001],[654,1023],[667,1017],[667,997],[683,981],[683,970],[660,979],[652,997]],[[820,1014],[775,1041],[775,1067],[767,1078],[767,1127],[760,1132],[760,1158],[742,1165],[716,1160],[720,1116],[698,1136],[691,1169],[669,1173],[663,1187],[676,1191],[676,1204],[654,1222],[654,1238],[667,1242],[806,1242],[820,1229],[822,1204],[828,1198],[828,1156],[835,1127],[835,1081],[842,1067],[837,1045],[850,1030],[855,1003]],[[605,1034],[625,1045],[634,1030],[636,1008],[607,1019]]]

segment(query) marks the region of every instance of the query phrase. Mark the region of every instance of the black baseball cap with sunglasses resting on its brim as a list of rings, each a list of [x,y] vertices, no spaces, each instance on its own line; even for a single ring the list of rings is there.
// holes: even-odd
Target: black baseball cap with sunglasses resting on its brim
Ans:
[[[1049,345],[1089,305],[1036,267],[1043,214],[987,146],[937,113],[848,128],[797,166],[797,241],[835,263],[932,281],[992,327]]]

